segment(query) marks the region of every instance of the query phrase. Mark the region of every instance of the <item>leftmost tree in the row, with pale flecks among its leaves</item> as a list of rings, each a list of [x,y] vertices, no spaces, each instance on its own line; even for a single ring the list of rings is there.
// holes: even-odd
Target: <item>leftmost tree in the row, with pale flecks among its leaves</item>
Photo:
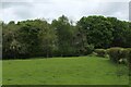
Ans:
[[[19,26],[14,22],[2,25],[2,57],[13,59],[19,55],[20,42],[16,40]]]

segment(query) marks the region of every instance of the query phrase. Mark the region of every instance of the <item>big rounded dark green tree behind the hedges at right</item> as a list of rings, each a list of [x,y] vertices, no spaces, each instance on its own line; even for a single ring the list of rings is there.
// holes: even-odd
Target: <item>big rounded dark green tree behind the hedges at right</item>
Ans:
[[[95,48],[108,48],[112,40],[112,25],[104,16],[82,17],[78,22],[81,33],[86,37],[87,44]]]

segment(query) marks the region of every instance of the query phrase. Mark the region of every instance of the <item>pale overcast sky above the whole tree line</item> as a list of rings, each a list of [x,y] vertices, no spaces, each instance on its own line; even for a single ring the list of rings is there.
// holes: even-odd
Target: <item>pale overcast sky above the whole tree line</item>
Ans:
[[[19,0],[17,0],[19,1]],[[0,17],[2,21],[23,21],[46,18],[49,22],[62,14],[78,21],[82,16],[105,15],[129,20],[129,0],[2,0]]]

